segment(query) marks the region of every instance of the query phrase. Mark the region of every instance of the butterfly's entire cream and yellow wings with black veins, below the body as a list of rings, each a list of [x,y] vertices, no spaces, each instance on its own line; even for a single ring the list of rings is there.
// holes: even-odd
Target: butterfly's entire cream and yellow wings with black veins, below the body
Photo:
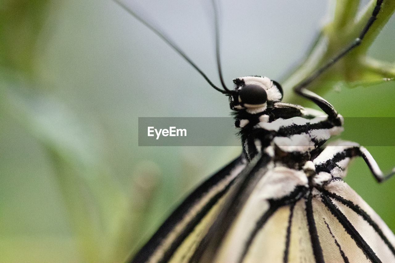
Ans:
[[[341,178],[314,186],[256,157],[203,183],[132,262],[395,262],[395,236]]]

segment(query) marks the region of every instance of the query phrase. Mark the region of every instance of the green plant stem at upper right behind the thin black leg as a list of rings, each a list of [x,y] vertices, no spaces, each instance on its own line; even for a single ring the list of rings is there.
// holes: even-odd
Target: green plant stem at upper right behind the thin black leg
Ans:
[[[376,0],[372,0],[365,6],[362,11],[362,15],[357,15],[359,1],[352,0],[337,0],[334,19],[330,23],[326,24],[320,30],[317,38],[314,40],[312,48],[309,50],[307,56],[291,70],[285,80],[282,81],[284,90],[288,90],[285,93],[285,101],[299,103],[301,98],[298,98],[290,92],[293,86],[303,81],[306,77],[315,72],[320,66],[322,66],[328,60],[337,56],[340,51],[354,41],[359,36],[363,27],[372,15],[372,10],[376,5]],[[395,0],[384,0],[382,9],[377,16],[376,21],[372,24],[371,28],[367,32],[361,45],[356,47],[354,50],[346,54],[339,62],[329,68],[322,76],[318,77],[313,83],[314,86],[309,86],[310,90],[321,90],[328,89],[327,83],[329,80],[339,81],[340,79],[345,80],[349,83],[355,83],[361,78],[366,78],[369,74],[367,71],[372,72],[372,65],[367,66],[363,64],[365,60],[367,49],[371,46],[374,39],[379,34],[380,30],[387,23],[391,15],[395,11]],[[369,62],[368,62],[369,63]],[[382,64],[384,66],[384,64]],[[384,73],[383,67],[380,67],[380,72]],[[391,70],[389,70],[389,73]],[[376,73],[378,69],[376,68]],[[391,78],[392,74],[386,76]],[[374,77],[377,79],[377,76]],[[366,81],[367,79],[362,79]]]

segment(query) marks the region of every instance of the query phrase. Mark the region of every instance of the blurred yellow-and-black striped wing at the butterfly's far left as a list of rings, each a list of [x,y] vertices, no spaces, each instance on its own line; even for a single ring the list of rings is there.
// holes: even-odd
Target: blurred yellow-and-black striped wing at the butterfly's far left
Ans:
[[[198,244],[200,236],[204,235],[205,229],[218,214],[234,179],[245,167],[246,160],[242,154],[203,182],[175,209],[130,262],[168,262],[171,258],[174,262],[181,262],[177,260],[185,258],[194,244]]]

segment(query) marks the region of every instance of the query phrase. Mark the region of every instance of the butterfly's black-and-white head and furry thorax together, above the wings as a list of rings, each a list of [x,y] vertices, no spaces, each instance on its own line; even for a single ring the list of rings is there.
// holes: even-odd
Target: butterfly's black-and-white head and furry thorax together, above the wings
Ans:
[[[275,162],[300,169],[315,158],[321,146],[339,134],[342,117],[328,116],[300,105],[282,103],[282,88],[267,77],[249,76],[233,81],[230,96],[247,160],[264,152]]]

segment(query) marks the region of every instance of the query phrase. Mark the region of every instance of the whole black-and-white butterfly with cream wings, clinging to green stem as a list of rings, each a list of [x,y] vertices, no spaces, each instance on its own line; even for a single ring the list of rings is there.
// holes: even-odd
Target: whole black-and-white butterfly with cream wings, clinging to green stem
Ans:
[[[229,97],[243,153],[192,192],[131,262],[395,260],[395,236],[342,180],[348,163],[358,156],[379,182],[394,171],[384,175],[366,148],[357,143],[327,143],[342,131],[344,120],[328,101],[307,89],[361,43],[381,5],[378,0],[350,46],[294,87],[322,112],[281,102],[281,85],[268,77],[239,77],[233,81],[234,89],[227,88],[218,34],[222,88],[215,86],[181,49],[142,21],[213,88]]]

